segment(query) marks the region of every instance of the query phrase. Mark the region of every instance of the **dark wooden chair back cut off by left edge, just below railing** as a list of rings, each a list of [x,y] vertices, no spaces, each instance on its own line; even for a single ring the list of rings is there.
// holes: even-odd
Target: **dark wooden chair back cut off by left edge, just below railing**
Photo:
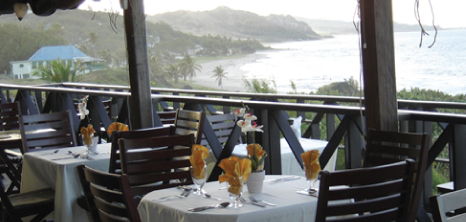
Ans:
[[[0,131],[19,129],[19,103],[0,103]]]

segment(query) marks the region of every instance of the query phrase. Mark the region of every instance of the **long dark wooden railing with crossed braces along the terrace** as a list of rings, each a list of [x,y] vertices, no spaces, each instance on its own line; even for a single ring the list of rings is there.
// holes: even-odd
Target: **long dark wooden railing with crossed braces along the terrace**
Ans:
[[[131,95],[129,87],[126,86],[76,83],[41,86],[0,84],[0,88],[1,101],[20,101],[23,114],[74,110],[73,99],[89,95],[90,117],[94,121],[93,124],[102,124],[107,129],[111,123],[112,118],[107,115],[101,103],[106,99],[112,99],[114,119],[130,123],[127,104],[129,104],[128,100],[131,99]],[[265,168],[270,174],[281,173],[280,164],[272,164],[281,162],[279,147],[281,136],[286,138],[297,160],[300,160],[299,154],[303,152],[298,139],[289,127],[287,121],[290,117],[289,113],[293,116],[306,117],[304,122],[307,128],[303,137],[328,140],[328,145],[320,157],[322,166],[327,164],[340,144],[345,147],[346,168],[361,166],[365,135],[364,106],[361,104],[364,100],[358,97],[153,88],[152,100],[152,104],[148,105],[154,108],[155,126],[162,125],[157,112],[164,110],[182,107],[218,114],[219,112],[229,113],[233,109],[242,107],[243,103],[249,106],[258,116],[259,124],[264,125],[266,129],[264,133],[256,134],[256,141],[261,143],[269,154]],[[466,168],[466,137],[464,136],[466,115],[435,112],[437,109],[466,111],[466,104],[399,100],[398,106],[400,131],[426,132],[432,135],[434,124],[440,126],[442,132],[432,142],[428,164],[431,165],[439,153],[448,146],[451,161],[450,177],[455,181],[456,189],[466,188],[466,175],[461,173],[461,170]],[[79,123],[77,117],[75,121]],[[321,135],[321,127],[324,124],[326,137],[322,138],[324,136]],[[205,131],[209,132],[209,130]],[[231,137],[239,135],[239,130],[236,130]],[[213,144],[213,151],[219,159],[229,156],[234,143],[234,139],[231,139],[223,149],[220,144]],[[298,163],[302,164],[301,161]],[[213,180],[215,174],[220,172],[219,168],[214,169],[210,179]],[[430,184],[431,178],[427,176],[426,187]],[[430,191],[431,187],[426,190]],[[426,196],[428,195],[429,192],[426,192]]]

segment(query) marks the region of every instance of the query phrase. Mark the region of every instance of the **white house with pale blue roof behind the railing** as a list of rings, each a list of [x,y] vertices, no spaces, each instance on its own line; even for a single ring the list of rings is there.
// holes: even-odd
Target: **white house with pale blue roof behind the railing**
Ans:
[[[27,61],[11,61],[11,71],[15,79],[28,79],[41,65],[50,66],[52,61],[57,59],[65,64],[71,63],[71,69],[74,69],[76,62],[81,62],[85,65],[82,73],[106,69],[105,60],[89,57],[75,46],[62,45],[44,46]]]

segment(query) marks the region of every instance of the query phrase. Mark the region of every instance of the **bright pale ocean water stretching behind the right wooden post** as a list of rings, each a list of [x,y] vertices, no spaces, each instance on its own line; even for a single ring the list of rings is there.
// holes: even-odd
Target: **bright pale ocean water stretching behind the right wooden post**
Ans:
[[[419,47],[420,32],[395,33],[395,67],[397,91],[439,90],[451,95],[466,94],[466,29],[439,30],[433,47],[433,32],[424,36]],[[246,79],[274,81],[279,93],[316,92],[321,86],[361,75],[359,36],[337,35],[334,38],[265,44],[277,49],[258,51],[264,58],[245,63]],[[279,50],[278,50],[279,49]]]

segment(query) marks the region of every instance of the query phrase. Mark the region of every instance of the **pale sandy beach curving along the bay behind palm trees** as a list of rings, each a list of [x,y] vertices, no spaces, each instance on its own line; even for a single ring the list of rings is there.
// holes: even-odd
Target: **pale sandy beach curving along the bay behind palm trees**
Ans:
[[[257,59],[265,58],[266,54],[249,54],[240,58],[232,59],[219,59],[210,62],[199,63],[202,66],[200,72],[196,73],[196,77],[193,79],[193,83],[196,85],[202,85],[217,90],[225,90],[231,92],[246,92],[243,77],[246,75],[246,71],[242,70],[241,67],[246,63],[256,62]],[[227,73],[225,79],[222,79],[222,87],[218,86],[216,77],[214,75],[215,67],[221,65],[223,70]]]

